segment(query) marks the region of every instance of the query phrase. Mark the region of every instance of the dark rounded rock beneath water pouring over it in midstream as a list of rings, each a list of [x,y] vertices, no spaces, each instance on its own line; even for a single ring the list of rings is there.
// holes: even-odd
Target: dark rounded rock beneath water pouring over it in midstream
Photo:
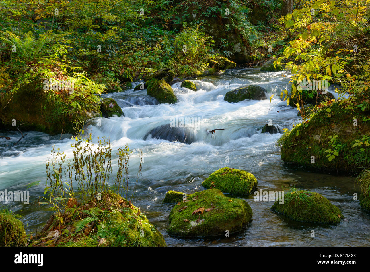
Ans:
[[[195,134],[188,128],[174,128],[170,125],[162,125],[150,130],[144,136],[144,140],[151,135],[153,139],[162,139],[170,142],[180,142],[191,144],[195,142]]]

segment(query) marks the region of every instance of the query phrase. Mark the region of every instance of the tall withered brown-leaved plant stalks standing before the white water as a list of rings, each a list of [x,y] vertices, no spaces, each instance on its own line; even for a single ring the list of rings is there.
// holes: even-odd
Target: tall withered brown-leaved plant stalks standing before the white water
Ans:
[[[84,131],[81,130],[81,134]],[[75,136],[73,158],[66,159],[67,155],[60,149],[51,150],[51,157],[46,163],[46,176],[50,184],[44,189],[44,198],[52,203],[58,211],[67,207],[68,198],[88,202],[110,193],[122,194],[125,198],[129,192],[128,162],[132,150],[125,145],[118,152],[117,174],[113,177],[112,148],[109,139],[100,139],[92,143],[91,134],[87,137]],[[141,175],[142,152],[137,179],[132,190],[131,200],[135,195],[138,177]],[[77,190],[73,183],[77,182]],[[45,196],[48,195],[48,198]],[[131,201],[130,200],[130,201]],[[44,204],[44,203],[42,203]]]

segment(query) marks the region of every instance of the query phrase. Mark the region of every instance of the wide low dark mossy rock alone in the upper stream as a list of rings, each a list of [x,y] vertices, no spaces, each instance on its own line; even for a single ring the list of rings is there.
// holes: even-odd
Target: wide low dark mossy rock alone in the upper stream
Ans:
[[[265,90],[258,85],[248,85],[225,94],[227,102],[239,102],[245,99],[263,100],[266,99]]]

